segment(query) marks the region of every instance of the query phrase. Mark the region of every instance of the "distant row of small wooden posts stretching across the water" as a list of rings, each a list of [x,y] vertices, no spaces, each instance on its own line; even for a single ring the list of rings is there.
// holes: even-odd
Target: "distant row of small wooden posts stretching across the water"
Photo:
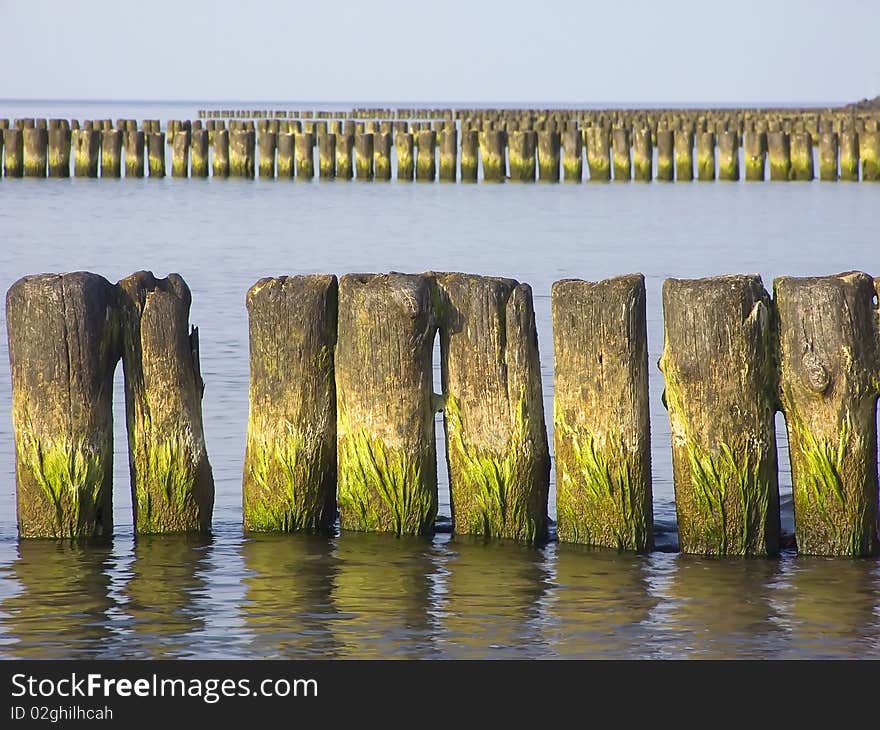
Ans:
[[[406,119],[0,119],[15,177],[255,176],[512,182],[880,180],[878,117],[800,114],[450,112]],[[814,153],[814,148],[816,152]],[[317,150],[317,153],[316,153]],[[392,152],[393,151],[393,152]],[[73,164],[71,166],[71,158]],[[317,158],[317,164],[316,164]],[[816,169],[818,167],[818,170]]]

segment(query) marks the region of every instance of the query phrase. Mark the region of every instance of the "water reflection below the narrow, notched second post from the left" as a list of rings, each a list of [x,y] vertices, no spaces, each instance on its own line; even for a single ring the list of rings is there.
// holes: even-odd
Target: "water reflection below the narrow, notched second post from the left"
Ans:
[[[207,608],[207,556],[211,538],[145,535],[134,545],[123,610],[130,616],[128,656],[170,659],[199,654],[196,633]]]

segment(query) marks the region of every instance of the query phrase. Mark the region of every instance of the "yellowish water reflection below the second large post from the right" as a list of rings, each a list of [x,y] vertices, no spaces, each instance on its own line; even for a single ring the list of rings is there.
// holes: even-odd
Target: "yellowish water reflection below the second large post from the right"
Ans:
[[[668,586],[664,633],[677,655],[706,659],[769,657],[782,630],[772,601],[779,563],[678,555]]]

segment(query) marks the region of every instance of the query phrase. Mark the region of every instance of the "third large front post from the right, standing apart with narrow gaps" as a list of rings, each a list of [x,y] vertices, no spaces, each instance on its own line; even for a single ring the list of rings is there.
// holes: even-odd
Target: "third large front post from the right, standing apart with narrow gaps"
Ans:
[[[645,278],[557,281],[552,310],[559,539],[650,550]]]

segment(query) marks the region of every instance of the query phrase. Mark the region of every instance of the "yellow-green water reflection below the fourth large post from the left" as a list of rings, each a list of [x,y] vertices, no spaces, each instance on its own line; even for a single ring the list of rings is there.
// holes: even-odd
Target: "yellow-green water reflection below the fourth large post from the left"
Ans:
[[[431,542],[344,532],[334,543],[333,633],[340,653],[352,659],[436,656]]]

